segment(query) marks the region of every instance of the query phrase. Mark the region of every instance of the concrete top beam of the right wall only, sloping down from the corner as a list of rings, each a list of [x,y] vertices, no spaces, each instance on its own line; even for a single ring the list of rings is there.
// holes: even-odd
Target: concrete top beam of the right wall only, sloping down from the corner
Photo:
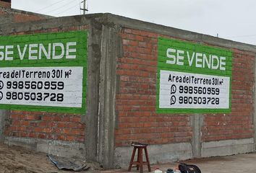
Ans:
[[[167,27],[164,25],[158,25],[150,22],[144,22],[138,19],[131,19],[128,17],[121,17],[119,15],[105,13],[103,18],[107,22],[113,22],[116,25],[121,25],[121,27],[127,27],[137,30],[146,30],[150,32],[155,32],[161,35],[168,35],[171,37],[177,37],[184,40],[193,40],[198,43],[208,43],[210,45],[218,45],[226,48],[236,48],[239,50],[247,50],[256,53],[256,45],[250,45],[247,43],[239,43],[233,40],[226,40],[219,37],[213,37],[210,35],[204,35],[197,32],[191,32],[187,30],[181,30],[174,27]]]

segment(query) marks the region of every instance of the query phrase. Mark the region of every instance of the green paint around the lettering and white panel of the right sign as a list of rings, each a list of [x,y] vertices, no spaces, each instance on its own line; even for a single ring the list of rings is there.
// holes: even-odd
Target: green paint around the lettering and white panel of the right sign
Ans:
[[[209,68],[197,68],[195,62],[192,66],[189,66],[188,61],[184,61],[184,66],[176,64],[166,64],[166,50],[168,48],[174,48],[176,50],[184,50],[189,52],[191,55],[193,52],[204,53],[206,56],[218,55],[226,57],[226,70],[221,71],[220,69],[213,70]],[[224,48],[216,48],[213,46],[202,45],[198,43],[189,43],[187,41],[168,39],[164,37],[158,37],[158,71],[157,71],[157,85],[156,85],[156,112],[157,113],[228,113],[231,112],[231,81],[232,81],[232,56],[233,52]],[[184,60],[187,55],[184,54]],[[190,74],[206,74],[213,76],[228,76],[229,81],[229,109],[214,109],[214,108],[159,108],[159,92],[160,92],[160,71],[178,71]]]

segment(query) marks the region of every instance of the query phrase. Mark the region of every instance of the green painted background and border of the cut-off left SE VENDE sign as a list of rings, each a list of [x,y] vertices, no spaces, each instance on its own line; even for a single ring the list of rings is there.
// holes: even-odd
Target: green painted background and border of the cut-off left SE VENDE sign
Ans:
[[[29,43],[50,43],[52,40],[58,41],[58,43],[67,43],[77,41],[77,58],[64,60],[46,60],[40,61],[28,61],[25,56],[24,60],[4,61],[0,63],[1,67],[59,67],[59,66],[81,66],[83,67],[83,79],[82,79],[82,107],[49,107],[49,106],[33,106],[33,105],[7,105],[1,104],[2,110],[25,110],[25,111],[41,111],[41,112],[63,112],[72,114],[86,113],[86,93],[87,93],[87,69],[88,69],[88,31],[78,30],[71,32],[51,32],[35,35],[10,35],[1,36],[1,45],[25,45]],[[54,42],[53,42],[54,43]],[[57,50],[56,50],[57,51]],[[17,53],[14,52],[17,56]],[[33,65],[33,66],[32,66]]]

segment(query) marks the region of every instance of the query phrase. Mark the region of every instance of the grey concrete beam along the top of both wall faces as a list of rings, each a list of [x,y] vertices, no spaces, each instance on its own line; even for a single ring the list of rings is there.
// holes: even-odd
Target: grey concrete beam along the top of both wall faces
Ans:
[[[18,10],[19,11],[19,10]],[[207,43],[210,45],[218,45],[226,48],[236,48],[239,50],[247,50],[256,53],[256,45],[249,45],[247,43],[239,43],[233,40],[226,40],[219,37],[213,37],[210,35],[203,35],[197,32],[191,32],[187,30],[180,30],[174,27],[167,27],[164,25],[158,25],[150,22],[144,22],[138,19],[131,19],[128,17],[121,17],[119,15],[110,13],[98,13],[98,14],[86,14],[69,17],[56,17],[50,19],[43,19],[34,22],[5,24],[0,27],[1,35],[9,35],[12,32],[26,32],[33,30],[51,29],[56,27],[69,27],[89,25],[91,20],[97,20],[98,22],[111,23],[119,25],[121,27],[127,27],[135,30],[145,30],[149,32],[155,32],[161,35],[168,35],[171,37],[177,37],[184,40],[196,41],[198,43]],[[11,28],[11,30],[10,30]]]

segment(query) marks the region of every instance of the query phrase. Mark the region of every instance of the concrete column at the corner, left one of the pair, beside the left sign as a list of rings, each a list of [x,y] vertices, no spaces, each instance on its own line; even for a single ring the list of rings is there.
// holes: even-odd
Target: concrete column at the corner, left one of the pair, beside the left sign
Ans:
[[[102,19],[102,18],[101,18]],[[86,159],[97,161],[98,154],[98,105],[101,62],[101,19],[90,19],[88,32],[88,87],[87,114],[85,115]]]

